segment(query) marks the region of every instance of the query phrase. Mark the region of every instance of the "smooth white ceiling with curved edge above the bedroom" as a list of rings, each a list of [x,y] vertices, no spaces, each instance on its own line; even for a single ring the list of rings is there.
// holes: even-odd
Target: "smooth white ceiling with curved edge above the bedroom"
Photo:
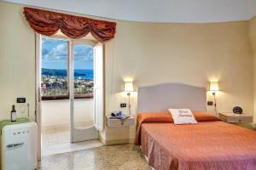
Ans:
[[[249,20],[256,0],[3,0],[117,20],[205,23]]]

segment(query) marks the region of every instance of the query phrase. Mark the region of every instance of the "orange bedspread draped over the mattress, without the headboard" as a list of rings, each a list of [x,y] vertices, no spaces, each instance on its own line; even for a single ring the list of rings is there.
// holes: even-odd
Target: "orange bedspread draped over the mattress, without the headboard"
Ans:
[[[141,139],[136,142],[156,170],[256,169],[254,131],[208,116],[201,119],[207,122],[175,125],[172,117],[161,117],[165,116],[169,122],[143,122],[154,118],[138,117]]]

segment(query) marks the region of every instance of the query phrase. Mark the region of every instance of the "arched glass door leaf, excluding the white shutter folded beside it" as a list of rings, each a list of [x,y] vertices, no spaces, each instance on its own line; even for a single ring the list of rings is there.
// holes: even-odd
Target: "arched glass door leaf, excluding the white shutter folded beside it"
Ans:
[[[98,139],[94,112],[94,48],[83,41],[71,43],[71,142]]]

